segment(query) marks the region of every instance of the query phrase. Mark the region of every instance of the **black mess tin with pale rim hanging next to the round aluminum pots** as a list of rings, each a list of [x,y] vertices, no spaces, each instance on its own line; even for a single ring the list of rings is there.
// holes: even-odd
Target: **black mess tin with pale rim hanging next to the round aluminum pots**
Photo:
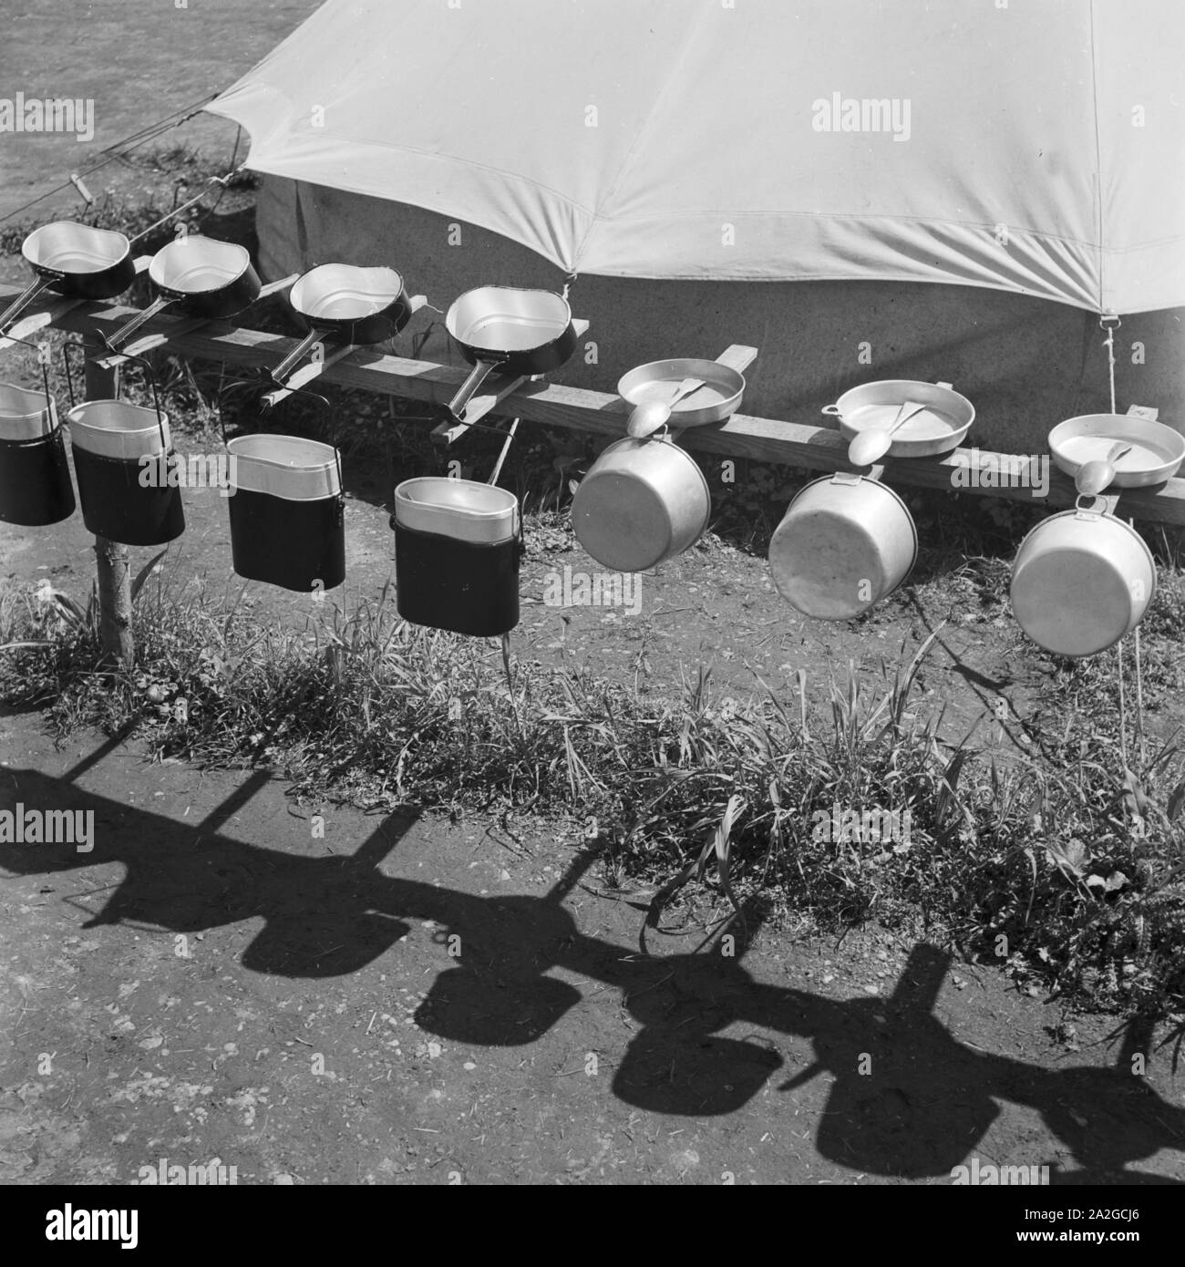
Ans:
[[[395,488],[395,598],[413,625],[497,637],[518,623],[522,517],[504,488],[426,476]]]

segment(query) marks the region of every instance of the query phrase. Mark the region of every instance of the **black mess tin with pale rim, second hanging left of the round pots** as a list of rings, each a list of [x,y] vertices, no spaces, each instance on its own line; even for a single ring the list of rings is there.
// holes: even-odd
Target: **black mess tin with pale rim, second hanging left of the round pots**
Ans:
[[[231,557],[234,571],[299,593],[346,579],[341,457],[298,436],[237,436],[229,457]]]

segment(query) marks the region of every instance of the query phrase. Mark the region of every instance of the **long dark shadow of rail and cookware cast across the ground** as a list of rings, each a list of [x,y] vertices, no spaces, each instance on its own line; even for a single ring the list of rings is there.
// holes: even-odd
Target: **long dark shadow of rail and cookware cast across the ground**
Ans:
[[[91,760],[85,764],[91,764]],[[779,1072],[778,1090],[833,1079],[816,1131],[819,1152],[845,1167],[907,1178],[949,1176],[999,1114],[1028,1106],[1073,1153],[1079,1169],[1054,1183],[1172,1183],[1128,1167],[1163,1148],[1185,1150],[1185,1111],[1131,1073],[1136,1031],[1114,1068],[1043,1069],[972,1050],[933,1015],[949,957],[916,944],[888,998],[835,1002],[755,981],[739,957],[651,957],[584,935],[563,900],[591,863],[580,858],[544,897],[477,897],[389,878],[380,864],[414,820],[393,816],[350,856],[297,856],[243,844],[219,829],[269,780],[250,777],[218,811],[190,827],[29,769],[4,775],[5,808],[93,811],[93,849],[0,839],[0,865],[18,874],[125,868],[122,882],[65,898],[84,927],[148,925],[174,933],[262,917],[243,967],[279,977],[356,972],[432,920],[456,939],[456,967],[440,973],[417,1014],[421,1029],[470,1044],[522,1047],[541,1038],[582,993],[553,968],[616,988],[640,1024],[617,1066],[613,1092],[660,1114],[741,1109]],[[752,924],[750,924],[752,926]],[[724,1038],[752,1025],[743,1040]],[[765,1033],[809,1039],[814,1062],[783,1071]]]

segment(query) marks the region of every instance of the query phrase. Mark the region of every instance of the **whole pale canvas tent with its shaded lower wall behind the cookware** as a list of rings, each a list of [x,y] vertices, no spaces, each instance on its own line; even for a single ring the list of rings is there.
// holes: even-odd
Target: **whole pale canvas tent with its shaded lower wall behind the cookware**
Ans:
[[[565,381],[750,342],[746,412],[939,378],[1016,447],[1106,407],[1100,313],[1185,423],[1182,47],[1177,0],[331,0],[210,109],[269,271],[567,280]]]

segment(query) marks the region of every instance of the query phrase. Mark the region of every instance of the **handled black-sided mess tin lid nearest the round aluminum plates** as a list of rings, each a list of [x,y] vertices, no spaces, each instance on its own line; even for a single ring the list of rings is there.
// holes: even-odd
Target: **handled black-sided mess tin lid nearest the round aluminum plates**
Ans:
[[[460,422],[487,375],[502,370],[520,378],[558,369],[575,351],[577,331],[568,300],[550,290],[479,286],[455,300],[445,328],[473,372],[449,404]]]

